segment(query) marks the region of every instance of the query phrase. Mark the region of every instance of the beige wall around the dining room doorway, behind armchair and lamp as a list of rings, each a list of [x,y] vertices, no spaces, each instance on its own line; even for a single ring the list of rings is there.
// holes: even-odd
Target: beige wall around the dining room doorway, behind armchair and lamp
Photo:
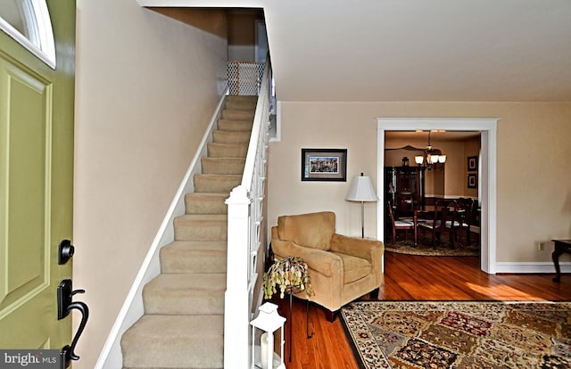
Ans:
[[[282,141],[269,146],[269,225],[328,209],[339,233],[360,235],[360,206],[344,197],[361,171],[377,185],[377,117],[497,118],[497,260],[549,262],[552,249],[537,242],[571,234],[571,103],[282,102],[281,112]],[[316,147],[348,149],[346,183],[301,181],[301,149]],[[366,236],[376,235],[376,206],[365,206]]]

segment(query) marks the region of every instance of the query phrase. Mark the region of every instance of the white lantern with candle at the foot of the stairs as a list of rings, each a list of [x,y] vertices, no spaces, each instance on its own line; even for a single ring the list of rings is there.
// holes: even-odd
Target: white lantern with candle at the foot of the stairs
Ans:
[[[259,307],[260,313],[250,322],[252,325],[252,358],[254,367],[260,369],[285,369],[284,323],[285,317],[277,314],[277,305],[266,302]],[[260,345],[255,345],[256,328],[263,331]],[[274,341],[278,341],[279,352],[274,352]]]

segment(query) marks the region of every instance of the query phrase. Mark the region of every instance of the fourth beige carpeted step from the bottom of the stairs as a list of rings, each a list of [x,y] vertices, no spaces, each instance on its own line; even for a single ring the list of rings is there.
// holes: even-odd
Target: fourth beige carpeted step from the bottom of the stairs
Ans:
[[[227,215],[186,214],[174,220],[176,241],[226,241]]]

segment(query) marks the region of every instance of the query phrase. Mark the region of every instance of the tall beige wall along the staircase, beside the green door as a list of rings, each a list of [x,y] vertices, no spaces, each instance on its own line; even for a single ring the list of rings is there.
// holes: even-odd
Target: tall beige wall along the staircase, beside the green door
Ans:
[[[90,316],[73,367],[90,369],[219,102],[227,40],[133,0],[78,0],[77,27],[73,286]]]

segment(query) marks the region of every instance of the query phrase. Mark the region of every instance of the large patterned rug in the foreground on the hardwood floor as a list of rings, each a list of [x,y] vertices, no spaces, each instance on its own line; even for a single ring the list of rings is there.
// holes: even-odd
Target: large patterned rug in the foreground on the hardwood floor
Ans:
[[[571,368],[571,301],[360,301],[341,317],[363,369]]]

